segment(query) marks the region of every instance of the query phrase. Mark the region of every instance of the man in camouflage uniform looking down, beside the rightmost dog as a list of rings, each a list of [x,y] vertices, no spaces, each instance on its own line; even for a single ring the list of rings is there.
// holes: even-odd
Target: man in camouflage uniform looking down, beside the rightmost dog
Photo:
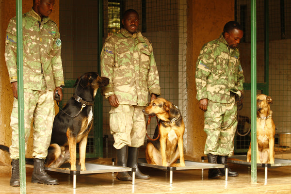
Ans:
[[[233,139],[237,129],[236,97],[243,96],[243,71],[240,63],[242,27],[227,22],[224,32],[216,40],[205,44],[196,63],[196,98],[205,117],[207,139],[204,154],[210,163],[226,164],[233,153]],[[210,169],[209,178],[225,175],[225,169]],[[229,169],[228,176],[237,172]]]

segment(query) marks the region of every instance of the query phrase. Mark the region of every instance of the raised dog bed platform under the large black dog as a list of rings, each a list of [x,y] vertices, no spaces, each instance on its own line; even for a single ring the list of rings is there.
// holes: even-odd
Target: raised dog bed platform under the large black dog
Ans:
[[[114,172],[132,172],[132,185],[135,184],[135,168],[122,167],[122,166],[113,166],[106,164],[98,164],[98,163],[85,163],[86,170],[82,171],[79,162],[76,162],[77,170],[66,170],[64,168],[49,168],[45,167],[47,171],[53,171],[58,173],[65,173],[73,176],[73,189],[76,189],[77,175],[92,175],[98,173],[114,173]],[[62,165],[61,167],[65,167],[70,169],[70,164],[66,163],[67,166]]]

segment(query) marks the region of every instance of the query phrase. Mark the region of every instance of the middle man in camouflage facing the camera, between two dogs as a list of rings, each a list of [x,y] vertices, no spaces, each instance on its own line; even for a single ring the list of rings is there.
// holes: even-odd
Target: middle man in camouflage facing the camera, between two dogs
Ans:
[[[110,79],[103,93],[108,98],[110,129],[114,137],[117,165],[135,167],[135,178],[148,179],[137,168],[139,147],[146,137],[146,119],[142,112],[161,93],[159,74],[151,43],[137,31],[139,15],[127,10],[124,28],[109,36],[101,52],[101,76]],[[127,158],[128,154],[128,158]],[[117,173],[120,180],[131,180],[131,173]]]

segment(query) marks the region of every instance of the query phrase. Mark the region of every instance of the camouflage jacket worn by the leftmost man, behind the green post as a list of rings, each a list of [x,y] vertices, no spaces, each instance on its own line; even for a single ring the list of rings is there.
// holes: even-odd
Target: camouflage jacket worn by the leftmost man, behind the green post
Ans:
[[[49,17],[41,17],[33,9],[23,14],[23,87],[41,90],[43,77],[47,89],[64,85],[61,60],[61,40],[57,24]],[[6,30],[5,60],[10,82],[17,81],[16,17]]]

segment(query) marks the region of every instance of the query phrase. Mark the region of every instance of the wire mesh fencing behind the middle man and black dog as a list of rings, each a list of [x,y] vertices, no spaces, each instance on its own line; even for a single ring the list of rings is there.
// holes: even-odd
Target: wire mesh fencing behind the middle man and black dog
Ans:
[[[103,33],[98,34],[99,1],[62,0],[60,1],[60,32],[62,39],[62,61],[66,86],[64,104],[74,93],[76,79],[88,71],[98,69],[98,37],[103,41],[122,27],[122,13],[135,9],[140,16],[139,31],[151,42],[160,76],[162,97],[186,113],[186,0],[103,0]],[[113,145],[110,134],[108,100],[102,100],[102,121],[104,146]],[[149,136],[153,136],[157,125],[152,119],[148,126]],[[94,129],[101,130],[101,129]],[[87,151],[96,152],[98,139],[92,130]],[[95,147],[95,149],[94,149]],[[108,150],[105,157],[111,157]]]

